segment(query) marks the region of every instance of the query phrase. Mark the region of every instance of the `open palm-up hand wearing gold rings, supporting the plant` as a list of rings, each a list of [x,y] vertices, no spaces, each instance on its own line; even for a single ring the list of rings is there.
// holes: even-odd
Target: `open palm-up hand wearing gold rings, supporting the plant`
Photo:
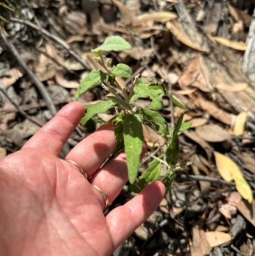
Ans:
[[[121,152],[101,167],[116,145],[108,123],[66,156],[89,181],[57,158],[83,116],[81,103],[69,103],[20,151],[0,161],[0,255],[110,255],[163,199],[164,185],[156,181],[103,214],[103,195],[90,183],[112,202],[128,181],[126,156]]]

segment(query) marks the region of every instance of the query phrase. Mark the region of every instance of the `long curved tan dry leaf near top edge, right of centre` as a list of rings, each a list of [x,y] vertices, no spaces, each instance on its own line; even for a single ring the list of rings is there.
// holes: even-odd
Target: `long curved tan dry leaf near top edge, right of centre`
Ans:
[[[167,22],[169,20],[177,19],[177,14],[171,11],[156,11],[154,13],[147,13],[138,20],[133,22],[133,26],[144,25],[146,22]]]

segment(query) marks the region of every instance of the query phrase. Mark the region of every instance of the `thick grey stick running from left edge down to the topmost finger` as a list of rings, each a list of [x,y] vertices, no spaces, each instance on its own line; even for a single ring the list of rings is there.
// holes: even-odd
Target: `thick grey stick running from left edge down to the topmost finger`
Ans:
[[[8,38],[6,38],[6,36],[4,35],[4,32],[3,32],[3,27],[0,27],[0,35],[1,35],[1,38],[3,39],[6,47],[8,47],[8,49],[11,51],[13,56],[16,58],[18,64],[20,64],[20,66],[23,68],[23,70],[25,70],[27,75],[29,75],[30,79],[34,82],[34,85],[36,86],[38,91],[40,91],[41,96],[43,96],[45,102],[47,103],[47,107],[50,110],[50,114],[52,116],[55,116],[55,114],[57,114],[57,109],[55,109],[55,105],[52,102],[50,95],[46,91],[45,86],[43,86],[43,84],[40,82],[38,77],[36,77],[36,75],[34,75],[34,73],[29,69],[27,64],[24,63],[23,59],[18,54],[18,51],[15,48],[15,46],[8,40]]]

